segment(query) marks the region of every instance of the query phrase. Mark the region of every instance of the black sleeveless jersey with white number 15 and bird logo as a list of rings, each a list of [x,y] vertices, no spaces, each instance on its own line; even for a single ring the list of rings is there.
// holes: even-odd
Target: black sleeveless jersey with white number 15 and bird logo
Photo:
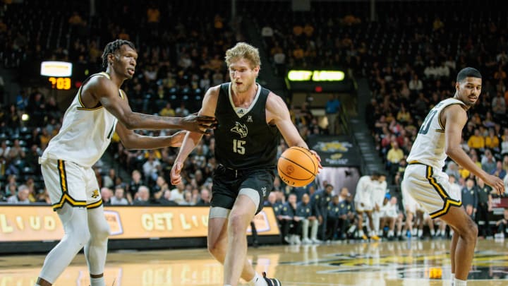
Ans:
[[[234,107],[231,83],[220,87],[215,118],[217,162],[232,169],[274,169],[277,166],[277,126],[266,121],[266,102],[270,90],[259,85],[258,93],[248,108]]]

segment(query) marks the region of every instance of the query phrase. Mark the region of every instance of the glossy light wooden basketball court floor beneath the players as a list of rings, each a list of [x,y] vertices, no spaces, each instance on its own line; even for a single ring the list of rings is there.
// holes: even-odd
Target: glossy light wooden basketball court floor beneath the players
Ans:
[[[469,286],[508,285],[507,244],[478,242]],[[260,246],[248,257],[284,286],[437,286],[450,285],[448,247],[449,240]],[[0,258],[0,286],[33,286],[43,261],[44,255]],[[106,285],[114,286],[222,286],[222,266],[206,249],[114,251],[105,274]],[[83,254],[54,285],[89,285]]]

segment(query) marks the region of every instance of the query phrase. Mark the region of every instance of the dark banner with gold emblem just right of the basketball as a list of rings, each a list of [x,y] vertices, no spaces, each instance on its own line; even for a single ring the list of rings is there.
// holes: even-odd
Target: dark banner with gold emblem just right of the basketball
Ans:
[[[349,136],[309,136],[308,146],[321,157],[323,167],[359,167],[361,153]]]

